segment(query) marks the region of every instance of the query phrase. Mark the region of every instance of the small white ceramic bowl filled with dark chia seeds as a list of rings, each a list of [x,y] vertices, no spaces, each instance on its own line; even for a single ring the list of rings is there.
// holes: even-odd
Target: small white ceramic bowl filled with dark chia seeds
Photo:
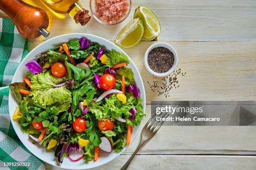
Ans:
[[[153,53],[153,50],[156,52]],[[163,52],[163,50],[165,50],[165,52]],[[169,50],[170,53],[168,54]],[[166,57],[162,55],[166,55]],[[148,72],[152,75],[157,77],[166,77],[167,75],[171,74],[177,67],[178,55],[174,47],[172,47],[172,45],[169,45],[164,42],[157,42],[148,47],[148,49],[146,50],[144,56],[144,64]]]

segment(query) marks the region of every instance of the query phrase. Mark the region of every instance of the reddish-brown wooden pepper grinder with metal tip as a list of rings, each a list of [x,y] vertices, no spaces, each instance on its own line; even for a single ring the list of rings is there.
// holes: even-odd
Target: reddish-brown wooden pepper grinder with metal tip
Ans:
[[[21,0],[0,0],[0,10],[6,13],[23,37],[36,38],[40,35],[47,37],[46,30],[49,18],[44,10],[29,5]]]

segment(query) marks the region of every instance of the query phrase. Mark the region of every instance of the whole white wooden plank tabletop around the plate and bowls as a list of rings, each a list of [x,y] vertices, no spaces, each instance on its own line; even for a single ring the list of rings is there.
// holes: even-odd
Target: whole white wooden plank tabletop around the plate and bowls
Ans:
[[[89,7],[89,0],[80,1]],[[178,76],[179,88],[172,89],[170,97],[158,96],[149,88],[147,81],[152,81],[152,76],[143,64],[144,52],[155,42],[124,49],[143,78],[146,119],[151,100],[256,100],[256,0],[133,0],[131,13],[122,23],[107,26],[92,19],[84,27],[68,15],[56,16],[39,0],[26,2],[48,13],[51,34],[46,39],[84,32],[113,41],[138,5],[153,10],[162,27],[158,41],[177,50],[177,68],[187,74]],[[29,40],[29,49],[44,40]],[[120,169],[137,145],[138,137],[123,155],[95,170]],[[59,168],[46,164],[46,169]],[[256,127],[164,126],[141,148],[128,169],[255,170]]]

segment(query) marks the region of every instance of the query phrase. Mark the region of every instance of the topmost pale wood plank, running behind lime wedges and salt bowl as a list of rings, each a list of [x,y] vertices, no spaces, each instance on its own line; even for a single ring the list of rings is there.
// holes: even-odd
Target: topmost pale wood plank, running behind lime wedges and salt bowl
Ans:
[[[51,20],[49,37],[85,32],[114,40],[120,29],[133,18],[138,5],[149,7],[158,16],[162,32],[159,40],[169,41],[255,41],[256,1],[248,0],[136,0],[128,18],[118,25],[102,25],[92,19],[82,27],[69,15],[56,14],[39,0],[25,0],[44,9]],[[80,0],[88,9],[89,1]],[[0,17],[6,17],[0,13]],[[61,28],[59,27],[61,26]],[[100,28],[100,29],[93,29]],[[42,38],[41,38],[42,39]]]

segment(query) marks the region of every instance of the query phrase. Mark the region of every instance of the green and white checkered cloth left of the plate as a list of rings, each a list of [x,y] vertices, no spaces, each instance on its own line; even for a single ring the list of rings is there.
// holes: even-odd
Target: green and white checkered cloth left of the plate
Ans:
[[[18,139],[8,110],[8,85],[27,54],[28,40],[19,34],[10,19],[0,18],[0,170],[45,169],[44,162],[30,153]],[[30,166],[4,166],[10,162],[30,162]]]

